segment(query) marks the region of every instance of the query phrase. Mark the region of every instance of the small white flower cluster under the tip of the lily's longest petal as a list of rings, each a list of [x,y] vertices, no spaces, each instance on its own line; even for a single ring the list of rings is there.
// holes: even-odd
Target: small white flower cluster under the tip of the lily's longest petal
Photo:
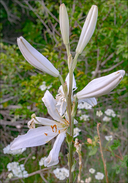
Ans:
[[[3,149],[3,153],[4,153],[4,154],[13,154],[13,155],[15,155],[15,154],[22,154],[25,150],[26,150],[26,148],[11,150],[11,149],[10,149],[10,145],[7,145],[7,146]]]

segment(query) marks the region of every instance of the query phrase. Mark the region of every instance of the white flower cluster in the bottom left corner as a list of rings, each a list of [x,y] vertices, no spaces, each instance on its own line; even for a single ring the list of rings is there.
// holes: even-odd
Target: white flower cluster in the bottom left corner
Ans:
[[[24,168],[24,164],[20,164],[18,162],[8,163],[7,165],[8,171],[12,171],[11,173],[15,177],[28,177],[28,172]],[[9,174],[8,177],[12,177],[12,174]]]

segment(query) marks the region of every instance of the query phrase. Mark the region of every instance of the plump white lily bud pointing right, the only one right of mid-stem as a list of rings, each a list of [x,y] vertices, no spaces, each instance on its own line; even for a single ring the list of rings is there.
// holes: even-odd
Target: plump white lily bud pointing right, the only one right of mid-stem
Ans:
[[[108,94],[120,83],[124,74],[124,70],[119,70],[107,76],[94,79],[83,90],[78,92],[76,96],[78,99],[83,99]]]

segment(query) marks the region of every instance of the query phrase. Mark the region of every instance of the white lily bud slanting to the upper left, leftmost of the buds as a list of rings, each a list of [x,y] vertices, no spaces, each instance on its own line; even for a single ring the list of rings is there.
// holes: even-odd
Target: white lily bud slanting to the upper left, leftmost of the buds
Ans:
[[[31,46],[23,37],[19,37],[17,39],[17,44],[24,58],[31,65],[54,77],[59,76],[59,71],[52,65],[52,63],[33,46]]]

